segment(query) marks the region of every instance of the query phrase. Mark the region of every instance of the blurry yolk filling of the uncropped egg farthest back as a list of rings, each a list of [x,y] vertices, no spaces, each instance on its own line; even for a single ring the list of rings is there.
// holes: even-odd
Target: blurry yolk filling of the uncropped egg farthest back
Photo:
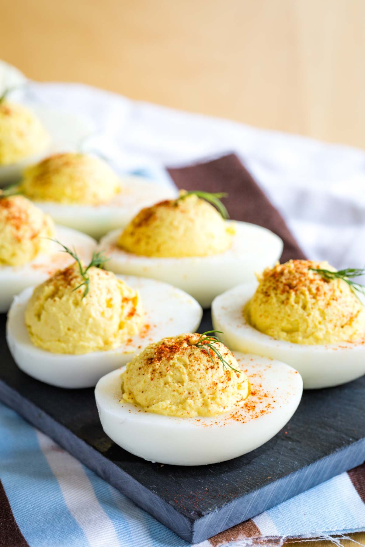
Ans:
[[[69,152],[28,167],[21,190],[35,201],[99,205],[119,193],[120,181],[105,161]]]

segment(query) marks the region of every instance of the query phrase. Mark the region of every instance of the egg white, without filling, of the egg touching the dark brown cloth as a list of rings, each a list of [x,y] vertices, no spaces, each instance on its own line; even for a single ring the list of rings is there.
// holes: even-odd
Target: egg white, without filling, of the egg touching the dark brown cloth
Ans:
[[[185,290],[207,308],[213,298],[279,260],[283,243],[279,236],[261,226],[228,221],[236,233],[232,246],[210,257],[157,258],[123,251],[117,246],[120,230],[103,237],[99,249],[109,260],[108,270],[115,274],[151,277]]]

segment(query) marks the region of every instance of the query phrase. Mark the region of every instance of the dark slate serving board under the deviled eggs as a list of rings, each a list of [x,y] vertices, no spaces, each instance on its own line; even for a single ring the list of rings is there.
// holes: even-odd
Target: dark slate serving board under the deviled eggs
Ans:
[[[5,332],[0,315],[0,333]],[[211,327],[204,313],[200,331]],[[308,490],[365,459],[365,377],[307,391],[287,426],[264,446],[228,462],[175,467],[146,462],[103,432],[93,389],[61,389],[22,373],[0,337],[0,400],[137,505],[199,543]]]

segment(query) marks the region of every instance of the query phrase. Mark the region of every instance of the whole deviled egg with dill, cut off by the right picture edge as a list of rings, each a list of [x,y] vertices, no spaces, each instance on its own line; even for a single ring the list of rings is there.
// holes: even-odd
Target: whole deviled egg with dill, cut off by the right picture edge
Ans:
[[[310,260],[266,268],[258,287],[217,296],[213,325],[234,350],[294,366],[304,388],[354,380],[365,373],[365,312],[346,271]]]

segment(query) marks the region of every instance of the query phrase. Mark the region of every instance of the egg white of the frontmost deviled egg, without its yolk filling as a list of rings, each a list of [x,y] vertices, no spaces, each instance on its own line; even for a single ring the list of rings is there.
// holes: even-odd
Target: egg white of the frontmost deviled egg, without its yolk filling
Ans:
[[[96,385],[95,399],[105,433],[123,449],[152,462],[206,465],[251,452],[274,437],[296,411],[303,384],[284,363],[235,353],[251,382],[242,408],[213,417],[178,418],[146,412],[121,399],[114,370]]]

